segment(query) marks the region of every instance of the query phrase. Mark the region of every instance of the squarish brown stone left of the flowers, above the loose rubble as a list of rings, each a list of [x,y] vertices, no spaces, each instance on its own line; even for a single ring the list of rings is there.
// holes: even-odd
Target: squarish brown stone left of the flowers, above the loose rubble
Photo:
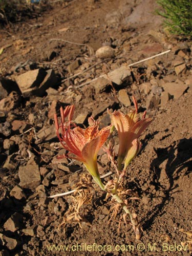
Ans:
[[[35,189],[40,184],[40,173],[38,165],[20,166],[18,170],[20,179],[19,186]]]

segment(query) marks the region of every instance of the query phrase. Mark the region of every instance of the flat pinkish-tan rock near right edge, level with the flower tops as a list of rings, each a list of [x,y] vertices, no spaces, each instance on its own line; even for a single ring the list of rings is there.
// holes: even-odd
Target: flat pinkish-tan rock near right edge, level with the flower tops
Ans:
[[[174,96],[174,99],[178,99],[187,90],[188,85],[182,81],[177,82],[167,82],[163,85],[165,92]]]

